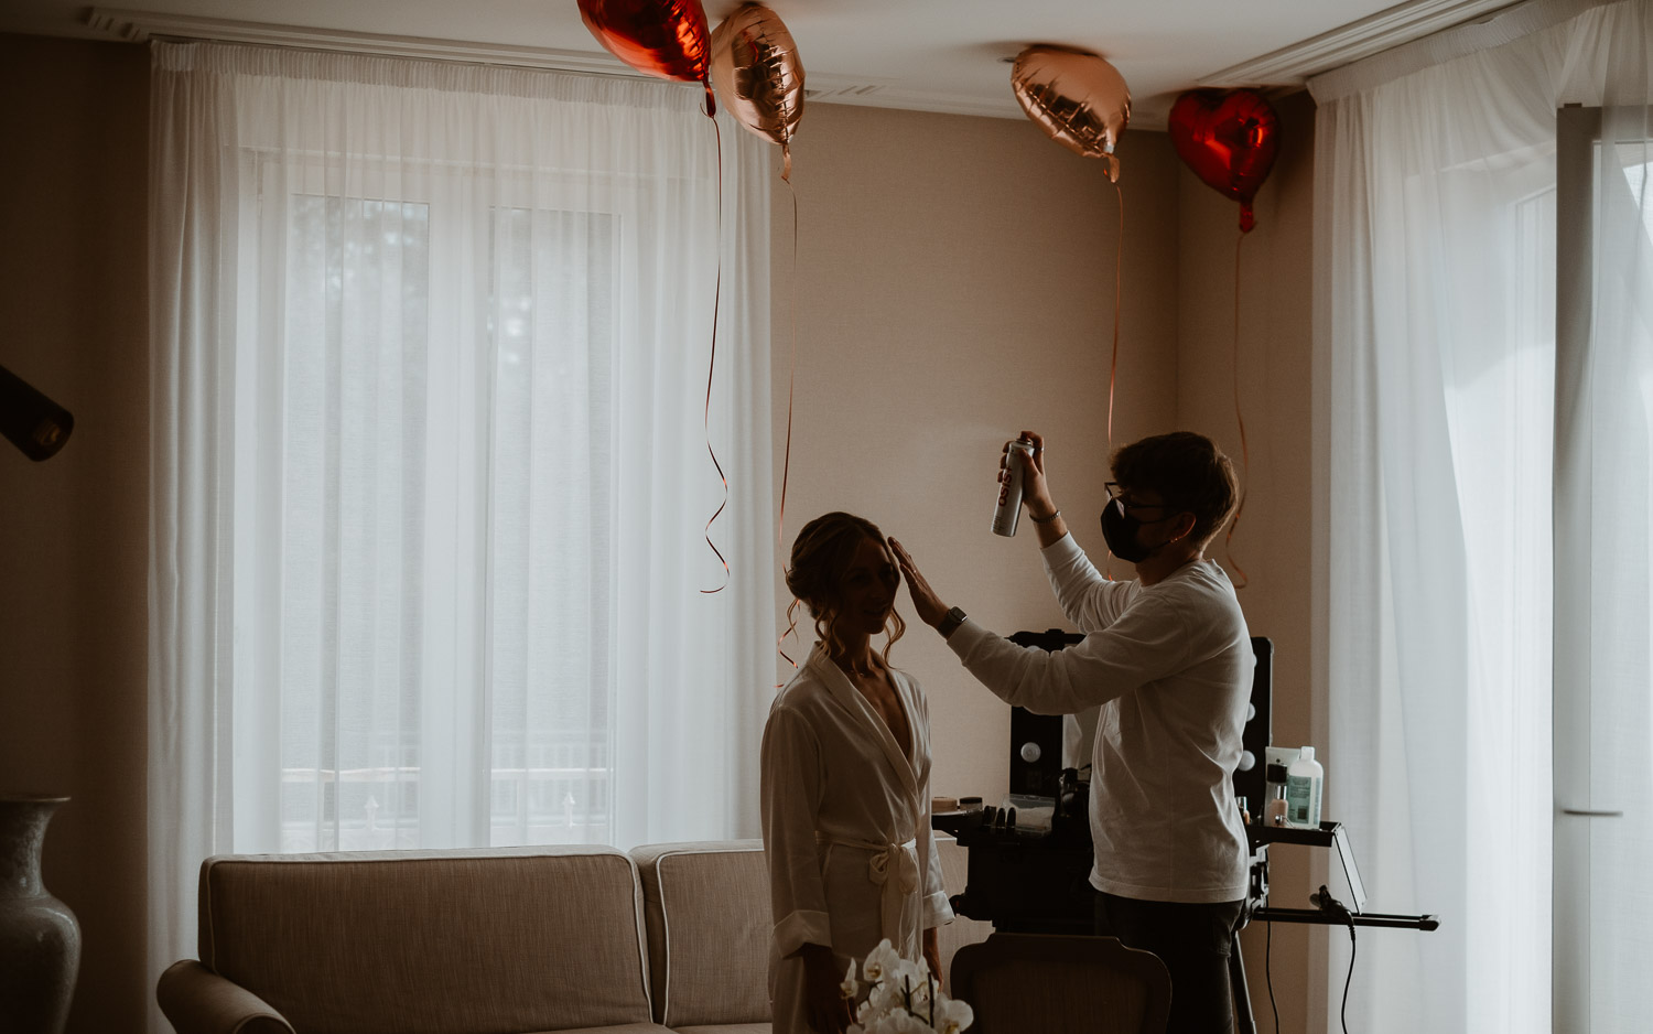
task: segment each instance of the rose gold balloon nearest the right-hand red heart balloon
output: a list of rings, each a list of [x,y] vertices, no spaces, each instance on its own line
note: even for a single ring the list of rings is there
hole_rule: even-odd
[[[1117,68],[1084,50],[1028,46],[1017,55],[1010,86],[1050,139],[1103,159],[1108,179],[1119,182],[1114,144],[1131,122],[1131,89]]]

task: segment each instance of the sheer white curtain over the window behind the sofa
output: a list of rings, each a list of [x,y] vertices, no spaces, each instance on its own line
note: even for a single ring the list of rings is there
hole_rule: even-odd
[[[724,122],[719,195],[686,86],[152,81],[152,963],[215,852],[755,835],[764,144]]]

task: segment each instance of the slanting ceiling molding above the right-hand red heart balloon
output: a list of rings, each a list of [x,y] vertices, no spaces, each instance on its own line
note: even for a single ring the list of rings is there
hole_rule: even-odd
[[[1413,0],[1261,58],[1213,71],[1200,78],[1198,86],[1301,86],[1309,76],[1508,7],[1516,5],[1511,0]]]

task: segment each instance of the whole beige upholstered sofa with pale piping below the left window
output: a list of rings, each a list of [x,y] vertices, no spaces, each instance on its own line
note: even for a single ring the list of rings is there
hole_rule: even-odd
[[[226,855],[157,998],[179,1034],[767,1034],[769,928],[757,840]]]

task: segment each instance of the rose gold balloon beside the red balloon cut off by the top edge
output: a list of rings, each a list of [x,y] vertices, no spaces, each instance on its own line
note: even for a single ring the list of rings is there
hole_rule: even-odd
[[[712,33],[712,86],[724,108],[757,136],[780,144],[780,177],[792,179],[792,136],[803,117],[803,61],[780,15],[746,3]]]

